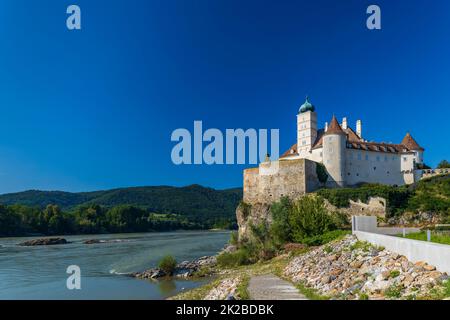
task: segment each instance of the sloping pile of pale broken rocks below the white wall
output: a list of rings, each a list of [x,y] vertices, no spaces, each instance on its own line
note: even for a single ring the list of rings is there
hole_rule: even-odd
[[[336,299],[414,299],[448,279],[426,262],[412,263],[355,236],[295,257],[284,274]]]

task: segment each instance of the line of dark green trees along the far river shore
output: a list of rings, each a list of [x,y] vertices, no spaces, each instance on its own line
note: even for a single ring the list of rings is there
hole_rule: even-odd
[[[45,208],[0,205],[0,236],[65,235],[234,228],[232,218],[189,220],[176,214],[158,214],[132,205],[105,207],[96,204],[63,211],[58,205]]]

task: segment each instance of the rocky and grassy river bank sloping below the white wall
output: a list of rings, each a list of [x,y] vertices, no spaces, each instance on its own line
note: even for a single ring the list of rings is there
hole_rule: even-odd
[[[213,282],[170,299],[249,299],[249,283],[261,275],[286,280],[312,300],[450,297],[447,274],[425,262],[412,263],[384,248],[358,241],[352,235],[320,247],[285,251],[265,262],[235,268],[217,267],[212,273],[216,277]],[[270,290],[265,289],[267,297],[273,296]]]

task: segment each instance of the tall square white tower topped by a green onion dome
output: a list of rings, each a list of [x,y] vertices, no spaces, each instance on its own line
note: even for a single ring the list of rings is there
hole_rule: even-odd
[[[307,157],[317,138],[317,113],[308,97],[297,114],[297,151],[301,157]]]

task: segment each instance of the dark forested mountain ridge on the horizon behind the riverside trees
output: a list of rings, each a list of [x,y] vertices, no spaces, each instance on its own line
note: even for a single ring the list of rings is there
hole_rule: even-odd
[[[70,211],[77,206],[122,204],[139,206],[155,213],[174,213],[201,220],[203,217],[234,217],[242,189],[215,190],[200,185],[186,187],[130,187],[94,192],[29,190],[0,195],[0,203],[44,208],[56,204]]]

